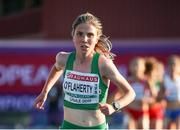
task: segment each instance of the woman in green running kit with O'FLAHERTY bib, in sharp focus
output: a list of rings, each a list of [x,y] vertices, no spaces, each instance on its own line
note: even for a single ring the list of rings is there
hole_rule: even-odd
[[[106,116],[130,104],[135,92],[112,62],[113,54],[102,25],[90,13],[79,15],[72,24],[75,52],[59,52],[34,107],[44,109],[48,92],[64,76],[64,121],[62,129],[105,129]],[[123,92],[121,99],[106,103],[110,81]]]

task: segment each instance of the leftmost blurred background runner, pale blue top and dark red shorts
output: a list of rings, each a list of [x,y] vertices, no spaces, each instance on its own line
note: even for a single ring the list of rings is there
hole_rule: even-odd
[[[144,80],[145,61],[142,57],[132,59],[129,65],[130,77],[129,83],[136,92],[136,99],[131,103],[126,112],[129,116],[129,129],[146,129],[149,126],[148,104],[144,96],[146,84]]]

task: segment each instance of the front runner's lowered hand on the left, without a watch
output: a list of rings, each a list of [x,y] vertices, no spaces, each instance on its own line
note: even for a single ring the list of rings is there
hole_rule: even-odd
[[[47,99],[47,95],[43,94],[43,93],[40,93],[39,96],[35,99],[33,107],[36,108],[36,109],[44,110],[43,105],[44,105],[46,99]]]

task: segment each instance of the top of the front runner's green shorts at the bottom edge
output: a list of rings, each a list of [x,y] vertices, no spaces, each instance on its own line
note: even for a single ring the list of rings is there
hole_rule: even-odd
[[[106,123],[103,123],[103,124],[100,124],[100,125],[97,125],[97,126],[91,126],[91,127],[84,127],[84,126],[78,126],[78,125],[75,125],[75,124],[72,124],[68,121],[63,121],[60,129],[106,129],[107,128],[107,125]]]

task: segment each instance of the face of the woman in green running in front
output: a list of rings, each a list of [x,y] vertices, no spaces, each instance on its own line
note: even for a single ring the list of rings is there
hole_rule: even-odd
[[[73,41],[77,52],[90,54],[98,41],[97,29],[91,24],[79,24],[74,32]]]

